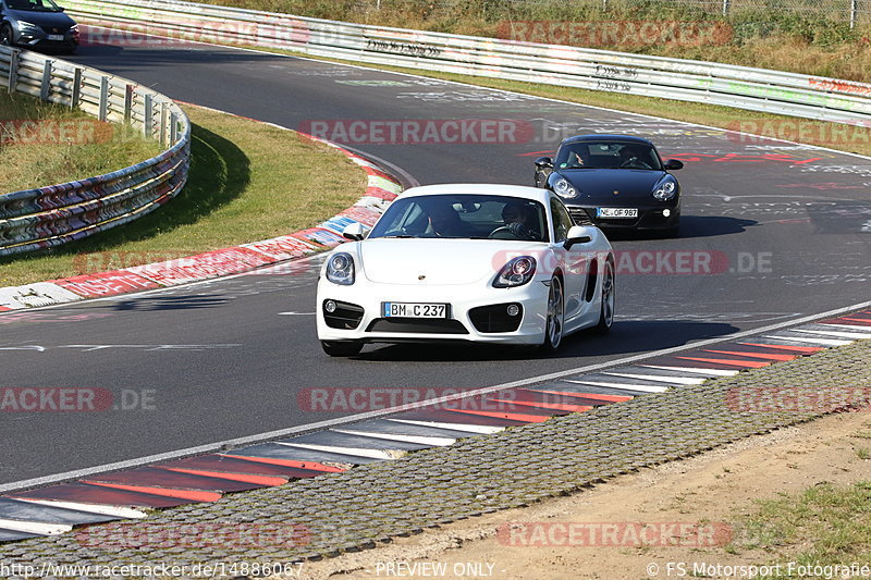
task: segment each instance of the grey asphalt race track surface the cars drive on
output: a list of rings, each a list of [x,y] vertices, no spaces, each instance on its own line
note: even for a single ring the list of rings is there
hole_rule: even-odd
[[[507,119],[523,129],[505,143],[351,145],[421,184],[531,184],[532,160],[554,150],[561,137],[647,136],[663,158],[686,163],[677,172],[683,232],[679,239],[615,240],[625,254],[613,333],[576,335],[549,358],[514,349],[376,345],[359,358],[331,359],[315,334],[316,264],[2,314],[2,386],[106,388],[118,408],[4,414],[0,484],[360,410],[306,411],[297,395],[309,387],[489,386],[868,299],[871,160],[228,48],[85,46],[73,60],[174,99],[292,128],[310,129],[311,121]],[[696,267],[675,273],[676,251],[694,252]]]

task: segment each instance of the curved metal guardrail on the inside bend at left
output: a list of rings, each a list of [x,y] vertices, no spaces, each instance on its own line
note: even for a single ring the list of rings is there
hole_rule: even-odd
[[[187,180],[191,123],[172,100],[132,81],[44,54],[0,47],[0,86],[128,123],[167,150],[142,163],[71,183],[0,194],[0,256],[45,249],[130,222]]]

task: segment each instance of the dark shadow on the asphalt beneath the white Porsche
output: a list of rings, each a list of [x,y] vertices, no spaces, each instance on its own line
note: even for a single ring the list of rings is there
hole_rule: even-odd
[[[567,359],[636,355],[683,346],[691,341],[726,336],[739,329],[724,322],[626,320],[614,323],[606,336],[578,332],[564,340],[559,351],[542,355],[536,347],[494,346],[474,343],[369,345],[353,357],[368,361],[493,361]]]

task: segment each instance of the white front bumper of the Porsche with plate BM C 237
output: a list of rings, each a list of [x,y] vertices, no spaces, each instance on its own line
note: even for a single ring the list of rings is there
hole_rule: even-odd
[[[341,286],[326,280],[318,282],[316,305],[318,321],[318,338],[321,341],[364,341],[401,343],[412,341],[471,341],[494,344],[539,345],[544,342],[548,294],[550,288],[536,276],[529,283],[515,288],[470,288],[468,285],[396,285],[377,284],[366,280],[357,280],[351,286]],[[334,300],[342,308],[342,303],[363,309],[352,312],[343,309],[343,318],[352,322],[342,323],[330,317],[330,323],[348,326],[359,317],[355,328],[331,328],[328,324],[324,303]],[[450,319],[384,319],[383,303],[425,303],[449,304]],[[507,305],[522,307],[520,319],[516,330],[507,332],[486,332],[516,324],[511,317],[503,314]],[[476,308],[504,305],[492,310],[492,316],[484,316]],[[473,321],[478,322],[478,325]],[[492,322],[482,322],[488,320]]]

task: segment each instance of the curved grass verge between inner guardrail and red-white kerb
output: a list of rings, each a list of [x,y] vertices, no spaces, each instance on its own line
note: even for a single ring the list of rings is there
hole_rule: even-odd
[[[90,273],[82,271],[85,263],[111,270],[289,234],[363,195],[364,172],[330,147],[256,121],[184,109],[193,123],[192,164],[176,199],[73,245],[7,258],[0,286]]]

